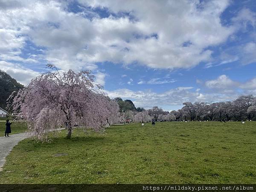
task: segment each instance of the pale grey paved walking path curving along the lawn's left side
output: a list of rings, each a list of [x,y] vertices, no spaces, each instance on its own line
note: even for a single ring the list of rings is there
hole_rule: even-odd
[[[62,130],[60,128],[58,130]],[[31,137],[32,135],[27,133],[10,134],[10,137],[0,137],[0,171],[2,171],[3,165],[6,162],[6,156],[12,151],[12,148],[17,145],[21,140]]]

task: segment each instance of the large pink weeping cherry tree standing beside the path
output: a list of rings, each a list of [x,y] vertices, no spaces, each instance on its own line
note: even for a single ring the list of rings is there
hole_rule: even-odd
[[[55,71],[32,79],[12,103],[14,113],[21,113],[39,138],[65,121],[67,138],[71,138],[74,125],[99,131],[104,129],[107,118],[118,118],[118,104],[105,96],[89,71],[61,72],[54,65],[47,66]]]

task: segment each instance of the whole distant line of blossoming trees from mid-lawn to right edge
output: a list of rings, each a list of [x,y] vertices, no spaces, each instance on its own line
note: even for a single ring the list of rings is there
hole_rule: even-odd
[[[255,120],[256,118],[256,97],[253,95],[239,96],[234,101],[184,102],[183,105],[183,108],[170,113],[157,106],[142,112],[127,111],[126,119],[133,119],[134,122],[149,122],[152,118],[162,121],[230,121]]]

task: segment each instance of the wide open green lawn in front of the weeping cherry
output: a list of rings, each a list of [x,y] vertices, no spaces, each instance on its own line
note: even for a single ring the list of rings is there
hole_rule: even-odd
[[[132,124],[51,139],[16,145],[0,183],[256,183],[256,122]]]

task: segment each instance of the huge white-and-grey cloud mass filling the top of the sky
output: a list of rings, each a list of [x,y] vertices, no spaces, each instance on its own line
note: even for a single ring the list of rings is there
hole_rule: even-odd
[[[220,20],[228,0],[79,3],[83,9],[70,12],[68,1],[3,1],[1,58],[26,58],[23,48],[31,42],[42,50],[45,61],[63,70],[94,70],[95,63],[103,61],[190,68],[209,61],[212,50],[207,47],[225,42],[234,32],[233,26],[223,26]],[[93,12],[96,8],[110,14],[101,17]],[[88,11],[93,15],[88,17]]]

